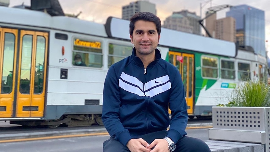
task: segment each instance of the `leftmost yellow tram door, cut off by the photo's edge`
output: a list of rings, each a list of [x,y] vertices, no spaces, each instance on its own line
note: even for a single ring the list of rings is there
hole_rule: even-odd
[[[0,28],[0,118],[13,117],[17,29]]]

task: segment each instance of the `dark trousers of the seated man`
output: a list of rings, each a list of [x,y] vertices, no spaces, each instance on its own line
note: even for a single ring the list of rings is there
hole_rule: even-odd
[[[155,139],[163,139],[167,135],[167,131],[158,131],[145,134],[139,138],[144,139],[149,144]],[[104,141],[103,152],[130,152],[129,149],[113,137]],[[176,149],[173,152],[210,152],[208,145],[197,138],[184,136],[176,143]]]

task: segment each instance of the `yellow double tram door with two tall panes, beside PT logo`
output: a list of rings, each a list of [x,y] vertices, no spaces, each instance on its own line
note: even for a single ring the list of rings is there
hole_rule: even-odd
[[[48,33],[21,30],[16,117],[43,117]]]

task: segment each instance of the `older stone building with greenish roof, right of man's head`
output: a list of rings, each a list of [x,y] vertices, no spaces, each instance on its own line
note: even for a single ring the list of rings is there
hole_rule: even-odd
[[[189,19],[178,13],[173,13],[173,15],[167,17],[163,27],[193,33],[193,26],[190,25]]]

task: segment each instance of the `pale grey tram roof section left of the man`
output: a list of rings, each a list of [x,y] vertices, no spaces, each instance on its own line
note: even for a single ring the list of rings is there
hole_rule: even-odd
[[[22,8],[0,6],[0,23],[59,29],[107,37],[103,24],[67,16],[50,16],[48,13]]]

